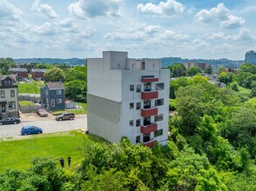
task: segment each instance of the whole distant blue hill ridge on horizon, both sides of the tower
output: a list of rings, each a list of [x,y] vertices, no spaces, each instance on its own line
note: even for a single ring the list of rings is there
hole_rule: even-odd
[[[195,63],[210,63],[212,65],[225,65],[227,67],[232,68],[239,68],[239,64],[245,63],[243,60],[239,61],[232,61],[227,60],[225,58],[219,59],[219,60],[206,60],[206,59],[183,59],[180,57],[163,57],[160,58],[162,67],[165,68],[169,65],[172,65],[173,63],[188,63],[190,61],[193,61]],[[86,59],[80,59],[80,58],[68,58],[68,59],[61,59],[61,58],[19,58],[14,59],[15,63],[58,63],[58,64],[67,64],[67,65],[82,65],[86,64]]]

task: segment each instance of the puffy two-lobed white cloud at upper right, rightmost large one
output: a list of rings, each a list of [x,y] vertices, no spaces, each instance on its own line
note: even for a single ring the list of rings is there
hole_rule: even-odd
[[[224,3],[219,3],[217,7],[211,10],[200,10],[194,19],[201,23],[220,22],[219,26],[225,29],[239,28],[245,19],[239,16],[233,16],[231,11],[226,9]]]

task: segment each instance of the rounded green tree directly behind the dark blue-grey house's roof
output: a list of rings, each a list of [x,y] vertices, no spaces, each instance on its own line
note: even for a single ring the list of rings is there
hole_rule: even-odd
[[[64,71],[62,69],[58,69],[57,67],[48,69],[44,73],[44,81],[45,82],[63,82]]]

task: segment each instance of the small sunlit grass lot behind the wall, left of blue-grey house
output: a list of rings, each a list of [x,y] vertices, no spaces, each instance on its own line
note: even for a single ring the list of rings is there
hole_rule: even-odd
[[[18,93],[19,94],[40,94],[40,87],[43,87],[44,83],[39,81],[31,82],[19,82]]]

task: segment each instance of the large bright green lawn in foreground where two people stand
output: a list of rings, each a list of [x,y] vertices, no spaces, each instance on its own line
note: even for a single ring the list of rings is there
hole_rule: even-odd
[[[0,173],[4,169],[30,168],[30,160],[35,156],[50,156],[59,163],[60,157],[71,156],[71,168],[75,168],[83,161],[84,142],[105,142],[94,135],[85,135],[82,132],[71,131],[59,134],[23,136],[21,140],[0,141],[1,165]]]

